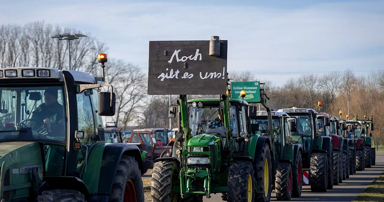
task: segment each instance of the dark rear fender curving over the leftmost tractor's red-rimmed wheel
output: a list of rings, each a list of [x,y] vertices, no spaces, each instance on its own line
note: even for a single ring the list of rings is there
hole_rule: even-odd
[[[111,193],[113,180],[122,155],[128,155],[135,158],[139,164],[139,169],[143,174],[144,168],[141,160],[139,147],[132,144],[111,143],[106,144],[103,151],[103,160],[99,176],[98,193],[109,195]]]

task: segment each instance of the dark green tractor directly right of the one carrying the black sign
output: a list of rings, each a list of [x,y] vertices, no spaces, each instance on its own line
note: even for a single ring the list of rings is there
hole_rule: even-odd
[[[249,110],[253,107],[250,106]],[[268,134],[269,128],[267,111],[250,112],[252,124],[257,124],[258,135]],[[285,112],[271,112],[273,132],[272,167],[275,170],[272,181],[275,182],[275,193],[278,200],[290,200],[300,197],[303,186],[303,164],[301,155],[303,149],[298,142],[293,143],[291,132],[296,131],[295,118]],[[288,179],[288,180],[287,180]]]

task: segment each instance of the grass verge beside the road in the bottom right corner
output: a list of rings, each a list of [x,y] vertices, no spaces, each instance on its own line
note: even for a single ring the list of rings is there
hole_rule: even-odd
[[[384,172],[377,177],[353,202],[384,202]]]

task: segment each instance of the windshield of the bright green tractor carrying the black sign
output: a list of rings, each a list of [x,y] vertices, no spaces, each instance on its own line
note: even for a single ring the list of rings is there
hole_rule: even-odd
[[[222,110],[222,109],[221,109]],[[219,107],[208,106],[208,107],[193,107],[189,109],[189,128],[191,129],[192,136],[202,133],[219,133],[225,136],[225,126]],[[236,107],[231,106],[229,108],[230,113],[230,125],[232,129],[232,136],[238,135],[237,128],[237,116]]]

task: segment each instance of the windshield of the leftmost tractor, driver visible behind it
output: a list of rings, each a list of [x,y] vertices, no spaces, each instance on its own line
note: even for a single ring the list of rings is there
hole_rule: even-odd
[[[63,86],[0,87],[0,100],[0,141],[66,142]]]

